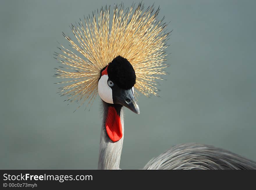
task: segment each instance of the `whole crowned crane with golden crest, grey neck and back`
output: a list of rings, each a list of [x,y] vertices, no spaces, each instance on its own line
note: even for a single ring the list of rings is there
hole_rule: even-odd
[[[56,68],[55,75],[69,79],[59,82],[69,83],[60,88],[67,101],[80,101],[81,106],[85,101],[91,104],[97,94],[102,99],[98,169],[120,169],[123,107],[139,114],[136,94],[157,95],[156,80],[166,75],[168,66],[165,48],[170,32],[165,31],[163,19],[157,19],[159,8],[116,5],[111,24],[109,13],[110,6],[102,7],[93,17],[71,25],[77,43],[63,33],[72,50],[61,45],[62,53],[54,54],[66,66]],[[256,163],[213,146],[182,144],[150,160],[143,169],[256,169]]]

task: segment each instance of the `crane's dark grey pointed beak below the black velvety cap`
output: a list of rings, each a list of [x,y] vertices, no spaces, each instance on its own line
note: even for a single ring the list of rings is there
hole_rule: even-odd
[[[135,102],[132,88],[128,90],[124,89],[115,89],[113,92],[113,102],[114,104],[121,104],[129,108],[134,113],[140,114],[140,108]]]

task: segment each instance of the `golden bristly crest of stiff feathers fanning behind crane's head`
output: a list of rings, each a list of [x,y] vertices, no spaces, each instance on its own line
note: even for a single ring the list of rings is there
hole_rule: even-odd
[[[62,53],[56,53],[56,59],[68,67],[55,68],[57,78],[70,79],[57,84],[69,83],[60,88],[61,95],[68,95],[68,101],[79,101],[83,104],[88,100],[92,103],[97,96],[97,83],[100,70],[118,55],[125,57],[136,73],[134,88],[142,94],[157,95],[156,79],[166,75],[163,70],[168,66],[166,61],[166,41],[170,34],[164,29],[167,24],[158,20],[159,8],[154,5],[144,10],[139,3],[135,9],[124,10],[124,5],[114,6],[112,27],[109,22],[109,8],[101,8],[93,17],[80,19],[78,25],[71,25],[72,32],[78,43],[70,37],[71,50],[61,45]],[[74,52],[79,52],[81,56]],[[78,54],[79,54],[78,53]],[[67,70],[64,70],[67,69]],[[80,107],[80,106],[79,106]]]

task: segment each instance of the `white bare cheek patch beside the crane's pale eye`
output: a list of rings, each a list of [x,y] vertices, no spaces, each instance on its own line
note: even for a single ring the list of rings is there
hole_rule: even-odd
[[[102,75],[98,82],[98,93],[104,102],[113,104],[112,89],[108,85],[108,75]]]

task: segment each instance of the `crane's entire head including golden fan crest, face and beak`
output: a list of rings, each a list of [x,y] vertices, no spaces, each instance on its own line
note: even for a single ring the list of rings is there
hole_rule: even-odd
[[[84,17],[70,28],[74,39],[70,49],[63,45],[55,58],[62,64],[56,69],[57,78],[66,81],[59,88],[65,101],[86,101],[92,104],[97,94],[113,105],[122,105],[139,113],[135,94],[158,95],[157,80],[166,75],[167,24],[158,19],[159,8],[144,8],[142,3],[125,8],[115,5],[102,7],[93,17]],[[136,73],[136,74],[135,74]],[[109,105],[111,106],[111,105]]]

